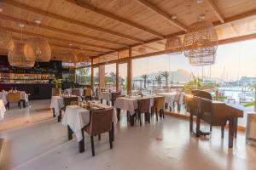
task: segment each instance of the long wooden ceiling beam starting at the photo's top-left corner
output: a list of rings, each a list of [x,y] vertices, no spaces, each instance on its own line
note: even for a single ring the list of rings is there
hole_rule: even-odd
[[[35,13],[35,14],[44,15],[45,17],[49,17],[49,18],[52,18],[52,19],[55,19],[55,20],[61,20],[61,21],[67,22],[69,24],[82,26],[84,28],[87,28],[87,29],[90,29],[90,30],[93,30],[93,31],[101,31],[103,33],[111,34],[111,35],[116,36],[116,37],[122,37],[122,38],[125,38],[125,39],[128,39],[128,40],[134,41],[134,42],[142,42],[142,43],[144,42],[143,40],[138,39],[136,37],[131,37],[131,36],[116,32],[116,31],[111,31],[111,30],[108,30],[108,29],[104,29],[102,27],[93,26],[93,25],[81,22],[79,20],[73,20],[73,19],[61,16],[61,15],[58,15],[58,14],[52,14],[52,13],[49,13],[49,12],[44,11],[42,9],[32,8],[32,7],[27,6],[23,3],[18,3],[18,2],[12,1],[12,0],[1,0],[1,3],[8,4],[8,5],[13,6],[15,8],[21,8],[23,10],[26,10],[26,11],[29,11],[29,12],[32,12],[32,13]]]

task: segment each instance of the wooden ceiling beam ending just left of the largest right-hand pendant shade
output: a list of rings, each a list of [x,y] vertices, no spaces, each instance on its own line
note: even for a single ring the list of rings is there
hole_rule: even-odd
[[[138,3],[142,4],[144,7],[148,8],[149,10],[153,11],[156,14],[160,14],[161,16],[163,16],[166,20],[170,21],[174,26],[177,26],[178,28],[180,28],[183,31],[188,31],[188,28],[186,26],[184,26],[183,24],[181,24],[180,22],[178,22],[177,20],[173,20],[172,16],[170,16],[169,14],[167,14],[166,12],[162,11],[160,8],[156,7],[154,4],[149,3],[146,0],[136,0]]]

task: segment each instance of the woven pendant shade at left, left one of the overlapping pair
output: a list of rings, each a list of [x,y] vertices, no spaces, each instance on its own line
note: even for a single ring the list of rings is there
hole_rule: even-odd
[[[24,45],[22,43],[15,43],[15,48],[13,51],[9,51],[8,54],[9,65],[17,67],[33,67],[35,61],[26,60],[24,54]]]

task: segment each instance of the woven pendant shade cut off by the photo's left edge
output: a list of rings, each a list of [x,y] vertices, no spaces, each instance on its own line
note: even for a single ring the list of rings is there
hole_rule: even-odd
[[[8,49],[9,51],[12,51],[15,48],[15,42],[11,35],[1,30],[0,31],[0,48]]]

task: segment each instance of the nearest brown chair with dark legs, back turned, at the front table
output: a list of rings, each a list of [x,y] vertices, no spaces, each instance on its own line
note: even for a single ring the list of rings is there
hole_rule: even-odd
[[[113,148],[113,132],[112,132],[113,109],[102,111],[92,111],[90,115],[90,124],[84,127],[84,131],[90,135],[91,153],[95,156],[94,139],[96,135],[107,133],[109,135],[110,149]]]

